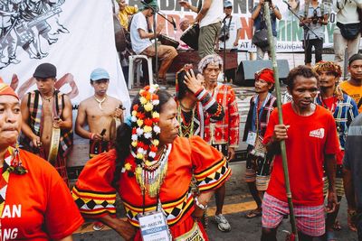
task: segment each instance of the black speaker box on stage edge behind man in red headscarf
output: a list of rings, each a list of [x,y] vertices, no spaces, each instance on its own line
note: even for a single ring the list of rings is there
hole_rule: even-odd
[[[288,60],[277,60],[279,79],[285,82],[289,73]],[[271,68],[271,60],[243,60],[240,62],[236,71],[236,78],[233,84],[238,86],[254,86],[254,74],[255,72],[264,68]]]

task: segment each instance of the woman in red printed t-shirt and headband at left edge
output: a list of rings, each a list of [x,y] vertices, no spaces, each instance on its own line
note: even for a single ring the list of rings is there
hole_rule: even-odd
[[[21,124],[19,97],[0,79],[0,240],[71,241],[83,218],[52,165],[18,148]]]

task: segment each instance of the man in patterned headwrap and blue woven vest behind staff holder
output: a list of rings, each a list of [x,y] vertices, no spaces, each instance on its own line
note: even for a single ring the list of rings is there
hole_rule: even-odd
[[[348,134],[348,126],[358,116],[358,108],[355,100],[349,97],[338,86],[338,80],[342,75],[340,66],[332,61],[319,61],[314,70],[319,75],[319,94],[316,97],[316,104],[325,107],[334,117],[337,126],[337,134],[339,139],[340,150],[336,154],[337,169],[336,169],[336,194],[338,205],[332,213],[327,214],[326,220],[326,235],[328,238],[334,237],[333,229],[340,230],[341,227],[336,219],[338,216],[339,203],[345,194],[343,188],[343,156],[344,147]],[[324,171],[324,196],[327,196],[329,190],[329,180]],[[348,226],[353,229],[353,224],[350,221],[348,209]],[[355,227],[356,228],[356,227]]]

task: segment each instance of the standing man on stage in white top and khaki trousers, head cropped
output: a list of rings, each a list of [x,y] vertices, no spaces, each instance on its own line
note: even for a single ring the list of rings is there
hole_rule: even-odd
[[[197,13],[194,23],[200,25],[200,34],[198,36],[198,55],[200,58],[214,54],[214,43],[219,35],[221,21],[223,20],[223,1],[204,0],[201,8],[190,5],[187,1],[180,1],[179,4]]]

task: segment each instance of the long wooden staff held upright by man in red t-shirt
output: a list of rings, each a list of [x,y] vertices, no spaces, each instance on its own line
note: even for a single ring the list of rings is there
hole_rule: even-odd
[[[274,71],[274,79],[275,79],[275,89],[277,93],[277,106],[278,106],[278,117],[279,117],[279,124],[283,125],[282,120],[282,111],[281,111],[281,84],[279,82],[279,71],[278,71],[278,63],[275,57],[275,45],[274,45],[274,38],[272,36],[271,30],[271,13],[269,11],[269,2],[264,2],[264,17],[268,31],[268,40],[269,40],[269,47],[271,51],[271,62],[272,62],[272,70]],[[294,240],[298,241],[298,231],[295,225],[295,216],[294,216],[294,209],[293,209],[293,202],[291,199],[291,182],[289,181],[289,171],[288,171],[288,162],[287,162],[287,153],[285,149],[285,141],[281,141],[281,160],[283,165],[284,171],[284,180],[285,180],[285,190],[287,192],[287,199],[288,199],[288,206],[291,215],[291,232],[294,235]]]

